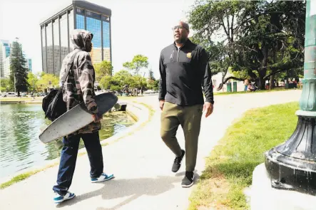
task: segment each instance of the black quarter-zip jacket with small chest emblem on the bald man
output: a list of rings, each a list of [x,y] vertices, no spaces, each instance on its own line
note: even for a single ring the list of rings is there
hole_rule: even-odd
[[[177,105],[214,103],[208,55],[189,39],[178,49],[175,43],[160,53],[159,100]],[[202,89],[203,87],[203,89]]]

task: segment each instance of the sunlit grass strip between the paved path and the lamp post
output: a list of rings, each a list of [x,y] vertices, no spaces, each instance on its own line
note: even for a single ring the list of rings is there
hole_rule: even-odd
[[[245,112],[208,157],[189,209],[248,209],[243,189],[251,185],[264,152],[292,135],[298,109],[298,103],[286,103]]]

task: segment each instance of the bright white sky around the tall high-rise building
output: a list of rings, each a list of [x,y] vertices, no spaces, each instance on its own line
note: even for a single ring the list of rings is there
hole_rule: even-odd
[[[133,56],[148,57],[156,79],[160,51],[173,43],[172,26],[187,20],[194,0],[88,0],[112,11],[112,65],[114,72]],[[33,72],[41,68],[41,29],[39,24],[71,4],[71,0],[0,0],[0,39],[22,43],[32,58]],[[148,72],[146,75],[148,76]]]

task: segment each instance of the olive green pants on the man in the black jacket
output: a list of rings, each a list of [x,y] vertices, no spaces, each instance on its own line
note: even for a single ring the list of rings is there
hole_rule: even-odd
[[[181,148],[175,137],[181,125],[185,137],[185,170],[193,172],[198,153],[198,136],[203,105],[181,106],[165,102],[161,113],[160,135],[171,151],[181,155]]]

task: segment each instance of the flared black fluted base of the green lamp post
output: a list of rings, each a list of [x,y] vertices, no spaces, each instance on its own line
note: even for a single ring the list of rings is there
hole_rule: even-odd
[[[289,140],[265,153],[265,167],[275,189],[316,195],[316,129],[314,117],[298,116]]]

